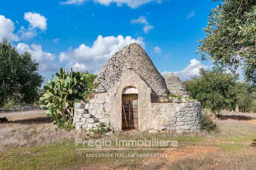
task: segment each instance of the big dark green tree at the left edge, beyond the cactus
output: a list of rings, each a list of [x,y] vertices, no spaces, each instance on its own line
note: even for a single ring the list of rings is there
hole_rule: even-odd
[[[0,107],[6,102],[30,104],[36,101],[43,77],[31,54],[20,55],[7,39],[0,41]]]

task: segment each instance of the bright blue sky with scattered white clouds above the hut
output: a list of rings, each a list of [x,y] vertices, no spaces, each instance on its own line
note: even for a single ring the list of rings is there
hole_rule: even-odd
[[[211,0],[4,0],[0,38],[7,37],[19,53],[30,51],[45,79],[60,67],[97,73],[113,53],[137,42],[160,73],[177,72],[186,80],[199,67],[212,66],[195,50],[216,5]]]

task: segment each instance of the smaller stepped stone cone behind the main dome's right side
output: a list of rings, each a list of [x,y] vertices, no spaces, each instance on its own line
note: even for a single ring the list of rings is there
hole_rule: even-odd
[[[188,97],[188,92],[186,91],[185,85],[177,74],[167,73],[165,76],[165,83],[171,93]]]

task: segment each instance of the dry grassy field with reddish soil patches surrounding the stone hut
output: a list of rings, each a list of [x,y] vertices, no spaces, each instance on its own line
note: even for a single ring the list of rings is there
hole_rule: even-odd
[[[235,115],[235,116],[234,116]],[[0,169],[255,169],[255,114],[223,111],[218,133],[116,132],[105,140],[177,140],[175,150],[76,151],[75,138],[90,138],[85,132],[56,129],[44,111],[0,113],[13,123],[0,124]],[[92,148],[89,146],[83,148]],[[124,147],[113,148],[122,149]],[[135,147],[131,147],[135,148]],[[141,147],[143,148],[143,147]],[[150,148],[159,148],[157,146]],[[168,147],[169,148],[169,147]],[[165,148],[166,149],[166,148]],[[86,153],[163,153],[164,157],[88,158]]]

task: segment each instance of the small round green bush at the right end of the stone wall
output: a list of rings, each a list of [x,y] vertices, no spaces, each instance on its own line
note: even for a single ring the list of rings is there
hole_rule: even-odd
[[[207,118],[205,114],[203,114],[199,119],[199,124],[201,125],[201,129],[204,132],[210,133],[213,131],[218,131],[218,126],[214,123],[210,118]]]

